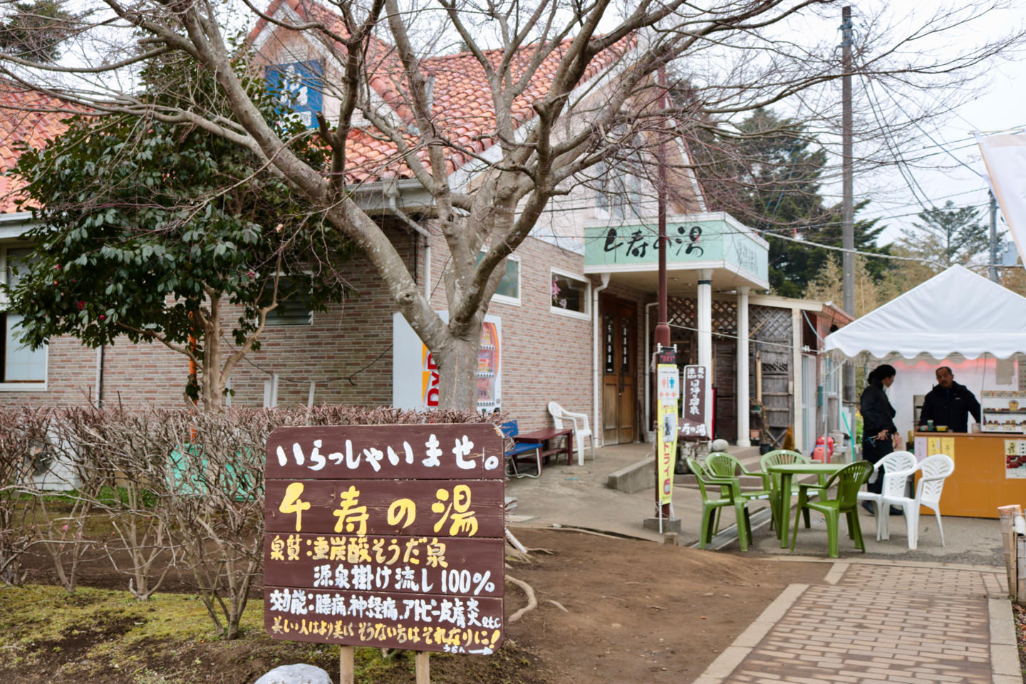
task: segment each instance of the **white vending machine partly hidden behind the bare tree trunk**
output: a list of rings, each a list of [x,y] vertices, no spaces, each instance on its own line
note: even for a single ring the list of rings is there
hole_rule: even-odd
[[[448,321],[448,312],[438,315]],[[502,319],[485,315],[477,356],[477,407],[502,408]],[[392,316],[392,405],[416,410],[438,407],[438,365],[402,314]]]

